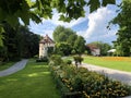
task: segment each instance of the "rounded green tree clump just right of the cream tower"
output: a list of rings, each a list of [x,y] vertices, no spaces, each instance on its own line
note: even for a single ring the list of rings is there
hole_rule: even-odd
[[[71,28],[57,26],[53,30],[53,39],[57,42],[57,51],[64,56],[71,54],[72,51],[83,53],[85,50],[85,39],[78,36]]]

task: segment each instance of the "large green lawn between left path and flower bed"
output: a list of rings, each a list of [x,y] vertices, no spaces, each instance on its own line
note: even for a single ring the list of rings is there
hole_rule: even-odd
[[[0,98],[60,98],[46,63],[29,60],[26,68],[0,77]]]

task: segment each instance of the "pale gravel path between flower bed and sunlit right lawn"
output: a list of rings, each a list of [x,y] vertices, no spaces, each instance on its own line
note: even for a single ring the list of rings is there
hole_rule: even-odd
[[[108,76],[112,79],[120,81],[120,82],[131,86],[131,72],[123,72],[123,71],[102,68],[102,66],[86,64],[86,63],[82,63],[81,66],[87,68],[90,71],[95,71],[100,74],[105,74],[106,76]]]

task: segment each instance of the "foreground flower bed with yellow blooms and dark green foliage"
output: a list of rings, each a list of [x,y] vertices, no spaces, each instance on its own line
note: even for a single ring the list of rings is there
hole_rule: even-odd
[[[131,95],[129,86],[73,65],[50,65],[63,98],[119,98]]]

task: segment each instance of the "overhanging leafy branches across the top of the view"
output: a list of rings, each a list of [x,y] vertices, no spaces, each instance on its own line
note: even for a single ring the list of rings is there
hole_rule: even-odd
[[[71,21],[85,15],[84,7],[88,5],[93,12],[99,7],[115,4],[116,0],[0,0],[0,23],[7,21],[16,25],[21,19],[26,25],[29,19],[39,23],[40,17],[51,19],[52,10],[60,13],[61,21]]]

